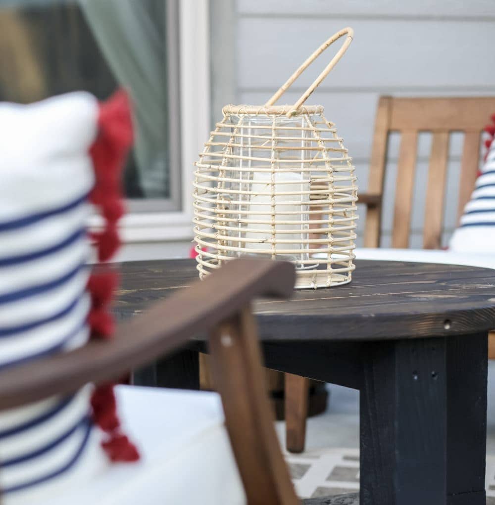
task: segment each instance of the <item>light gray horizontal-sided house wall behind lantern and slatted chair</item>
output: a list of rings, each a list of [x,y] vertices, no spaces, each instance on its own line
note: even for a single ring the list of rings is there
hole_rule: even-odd
[[[213,0],[215,2],[215,0]],[[227,2],[218,0],[223,8]],[[230,70],[238,103],[263,104],[332,33],[344,26],[355,37],[343,59],[309,98],[325,107],[353,157],[358,186],[366,190],[377,100],[393,96],[495,95],[495,2],[475,0],[236,0]],[[214,27],[212,21],[212,28]],[[212,34],[214,37],[215,35]],[[221,35],[218,36],[220,39]],[[341,42],[336,42],[336,47]],[[281,103],[294,103],[335,54],[330,48],[294,83]],[[212,57],[215,54],[212,53]],[[231,59],[232,60],[232,59]],[[229,64],[229,58],[223,61]],[[229,74],[228,69],[223,69]],[[215,86],[215,75],[213,86]],[[219,100],[217,100],[219,101]],[[213,113],[220,114],[219,104]],[[221,106],[220,106],[221,107]],[[487,111],[489,115],[495,111]],[[444,243],[456,226],[462,134],[451,137]],[[392,135],[385,182],[382,245],[390,244],[398,135]],[[414,190],[411,246],[421,247],[431,138],[421,134]],[[360,206],[361,207],[361,206]],[[358,234],[363,235],[364,208]],[[358,244],[361,243],[361,239]]]

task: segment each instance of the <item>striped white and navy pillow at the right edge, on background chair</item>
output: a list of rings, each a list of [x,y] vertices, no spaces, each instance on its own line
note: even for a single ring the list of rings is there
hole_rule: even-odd
[[[449,249],[495,254],[495,141],[488,149],[471,200],[464,208],[460,227],[454,232]]]

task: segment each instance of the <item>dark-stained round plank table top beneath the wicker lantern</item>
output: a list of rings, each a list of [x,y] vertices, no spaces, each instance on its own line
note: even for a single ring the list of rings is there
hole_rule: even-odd
[[[495,270],[356,260],[350,284],[296,290],[254,304],[262,340],[381,340],[487,332],[495,328]],[[120,264],[119,318],[198,280],[195,260]],[[233,279],[233,281],[235,281]],[[166,324],[166,321],[164,321]]]

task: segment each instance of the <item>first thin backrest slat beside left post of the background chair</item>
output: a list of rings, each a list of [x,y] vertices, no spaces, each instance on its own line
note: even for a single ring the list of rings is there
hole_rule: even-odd
[[[416,130],[402,133],[397,164],[392,247],[409,247],[417,144],[418,132]]]

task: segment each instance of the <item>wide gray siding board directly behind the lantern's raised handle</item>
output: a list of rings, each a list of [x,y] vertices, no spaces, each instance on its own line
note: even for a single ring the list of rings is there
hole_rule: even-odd
[[[493,33],[495,20],[382,21],[349,18],[354,40],[323,89],[381,90],[474,88],[486,92],[495,82]],[[277,89],[332,33],[342,20],[293,18],[239,19],[237,74],[241,89]],[[332,49],[329,49],[331,52]],[[308,86],[321,72],[328,53],[297,81]],[[409,89],[408,89],[409,90]],[[315,96],[317,99],[317,96]]]

